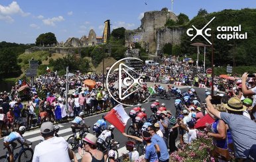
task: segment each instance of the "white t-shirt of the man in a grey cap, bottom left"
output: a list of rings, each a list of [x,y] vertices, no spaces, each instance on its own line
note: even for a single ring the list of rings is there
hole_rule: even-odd
[[[44,140],[34,147],[33,162],[63,161],[70,162],[68,142],[62,137]]]

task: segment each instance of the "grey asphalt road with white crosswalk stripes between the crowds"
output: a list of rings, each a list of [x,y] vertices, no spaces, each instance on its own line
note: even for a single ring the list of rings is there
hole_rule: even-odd
[[[187,87],[181,87],[180,89],[182,89],[182,91],[188,91]],[[204,89],[199,89],[199,88],[195,88],[196,92],[198,93],[198,96],[201,99],[201,102],[204,101],[205,99],[205,95],[204,95]],[[146,102],[145,104],[142,104],[142,106],[146,109],[146,113],[147,116],[151,116],[152,112],[151,112],[151,104],[153,103],[153,101],[155,101],[156,99],[159,99],[160,104],[162,102],[164,102],[166,104],[166,108],[167,110],[170,110],[170,112],[172,112],[172,114],[175,114],[175,107],[174,107],[174,98],[171,97],[170,100],[162,100],[160,99],[160,97],[156,97],[156,98],[149,98],[150,101]],[[134,106],[130,106],[125,108],[125,111],[127,112],[127,114],[129,114],[129,111],[131,110],[131,108],[133,108]],[[89,116],[85,119],[86,124],[88,124],[88,126],[92,126],[94,125],[94,123],[100,119],[102,116],[102,114],[97,114],[94,116]],[[128,121],[127,123],[127,127],[126,129],[129,127],[129,125],[131,124],[131,120]],[[92,129],[90,130],[90,132],[92,133]],[[125,130],[126,132],[126,130]],[[60,130],[58,132],[59,136],[62,136],[65,138],[65,140],[68,139],[69,136],[72,135],[72,131],[70,128],[70,123],[65,123],[65,124],[60,124]],[[125,136],[123,136],[121,134],[121,132],[119,132],[117,129],[114,130],[113,134],[115,135],[115,141],[120,143],[119,146],[119,155],[121,155],[121,153],[127,153],[127,150],[125,149],[125,142],[127,142],[127,138],[125,138]],[[34,147],[39,143],[39,140],[41,139],[40,136],[40,129],[35,129],[35,130],[31,130],[28,132],[25,132],[24,137],[26,140],[29,140],[30,142],[32,142],[32,149],[34,149]],[[176,139],[178,140],[178,139]],[[1,138],[0,140],[0,156],[1,155],[5,155],[5,152],[7,151],[7,149],[3,150],[3,138]],[[17,151],[17,150],[15,150]],[[78,159],[81,159],[80,155],[78,154],[78,151],[75,151]]]

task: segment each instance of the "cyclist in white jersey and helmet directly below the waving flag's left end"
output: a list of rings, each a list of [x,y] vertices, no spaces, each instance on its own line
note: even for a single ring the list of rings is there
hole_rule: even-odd
[[[115,126],[112,124],[107,126],[107,130],[103,130],[99,137],[97,138],[97,146],[103,151],[105,159],[107,159],[107,149],[114,144],[114,134],[113,130]]]

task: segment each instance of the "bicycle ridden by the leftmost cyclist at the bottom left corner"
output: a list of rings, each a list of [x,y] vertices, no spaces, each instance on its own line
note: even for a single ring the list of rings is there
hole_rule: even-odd
[[[32,145],[29,144],[29,145]],[[21,147],[19,153],[15,153],[15,155],[13,155],[13,161],[16,161],[18,159],[18,161],[32,161],[33,155],[34,155],[34,151],[31,148],[24,148],[23,144],[21,144]],[[18,149],[19,147],[16,147],[15,149]],[[6,147],[4,147],[3,149],[6,149]],[[7,151],[5,153],[5,155],[0,157],[0,161],[2,162],[7,162],[10,161],[10,157],[9,157],[9,152]]]

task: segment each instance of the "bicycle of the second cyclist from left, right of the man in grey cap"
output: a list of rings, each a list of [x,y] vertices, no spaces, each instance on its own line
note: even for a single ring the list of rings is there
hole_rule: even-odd
[[[68,142],[68,147],[72,149],[72,151],[78,149],[82,145],[82,139],[89,133],[90,126],[84,126],[78,132],[78,136],[76,135],[76,131],[73,132],[73,135],[66,140]]]

